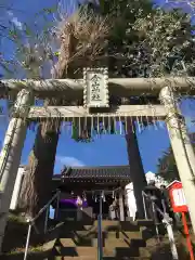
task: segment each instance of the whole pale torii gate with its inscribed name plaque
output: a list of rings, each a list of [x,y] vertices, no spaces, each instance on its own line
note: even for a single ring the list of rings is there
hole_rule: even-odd
[[[8,93],[9,91],[17,93],[17,98],[0,155],[0,245],[4,235],[9,206],[21,161],[27,121],[50,117],[68,118],[68,120],[90,118],[91,123],[98,117],[105,120],[109,120],[109,117],[122,118],[122,120],[129,117],[165,119],[195,232],[195,183],[193,182],[195,154],[186,132],[184,119],[176,102],[177,92],[191,91],[193,94],[195,92],[193,87],[195,87],[195,78],[108,79],[106,68],[86,69],[84,77],[80,80],[2,80],[0,82],[0,93]],[[73,100],[83,96],[83,106],[31,106],[35,96],[58,96],[62,95],[62,92]],[[159,96],[161,105],[121,105],[114,109],[109,107],[109,93],[122,98],[152,93]],[[95,112],[93,112],[94,108]]]

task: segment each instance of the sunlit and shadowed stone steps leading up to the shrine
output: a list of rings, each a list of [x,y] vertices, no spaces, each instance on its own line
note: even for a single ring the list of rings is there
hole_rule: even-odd
[[[103,259],[151,259],[147,239],[155,235],[152,221],[102,222]],[[98,260],[98,222],[66,222],[50,232],[48,260]]]

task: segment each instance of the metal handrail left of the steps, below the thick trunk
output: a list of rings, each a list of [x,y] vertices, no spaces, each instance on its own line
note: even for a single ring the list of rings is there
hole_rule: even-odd
[[[29,248],[29,239],[30,239],[30,234],[31,234],[31,227],[36,227],[35,226],[35,222],[36,220],[47,210],[46,213],[46,220],[44,220],[44,233],[47,233],[47,229],[48,229],[48,217],[49,217],[49,209],[50,209],[50,205],[53,203],[54,199],[57,199],[57,204],[56,204],[56,214],[58,216],[58,202],[60,202],[60,194],[61,191],[57,190],[56,193],[53,195],[53,197],[39,210],[39,212],[36,214],[36,217],[34,219],[28,219],[27,222],[29,223],[28,225],[28,233],[27,233],[27,237],[26,237],[26,246],[25,246],[25,253],[24,253],[24,260],[27,259],[28,256],[28,248]]]

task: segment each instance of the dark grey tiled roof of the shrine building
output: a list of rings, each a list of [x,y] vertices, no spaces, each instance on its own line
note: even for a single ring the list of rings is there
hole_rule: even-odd
[[[66,173],[65,173],[66,172]],[[115,179],[130,181],[130,166],[72,167],[62,171],[63,179]]]

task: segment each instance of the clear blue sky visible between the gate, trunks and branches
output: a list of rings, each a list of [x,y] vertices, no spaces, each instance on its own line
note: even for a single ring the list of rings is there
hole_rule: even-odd
[[[43,8],[51,6],[56,3],[56,0],[17,0],[13,1],[8,15],[10,20],[13,20],[17,26],[22,26],[22,23],[32,23],[35,20],[35,13]],[[72,9],[74,0],[65,0],[64,8],[68,8],[69,3]],[[160,1],[161,2],[161,1]],[[1,11],[2,12],[2,11]],[[3,51],[9,55],[12,53],[12,44],[2,42]],[[1,102],[4,105],[4,102]],[[193,103],[184,102],[182,110],[187,117],[192,117]],[[0,142],[2,145],[4,133],[8,127],[8,116],[0,117]],[[190,126],[190,125],[188,125]],[[190,126],[190,130],[195,130],[193,126]],[[27,164],[28,154],[32,147],[35,140],[35,131],[28,130],[25,141],[22,164]],[[142,133],[138,133],[139,147],[143,159],[144,170],[156,171],[156,165],[159,156],[169,147],[169,139],[165,125],[162,123],[158,130],[150,128]],[[102,135],[96,138],[92,143],[76,143],[70,139],[70,135],[63,131],[60,138],[56,162],[54,172],[57,173],[62,169],[63,165],[72,166],[101,166],[101,165],[126,165],[128,164],[126,141],[122,135]]]

